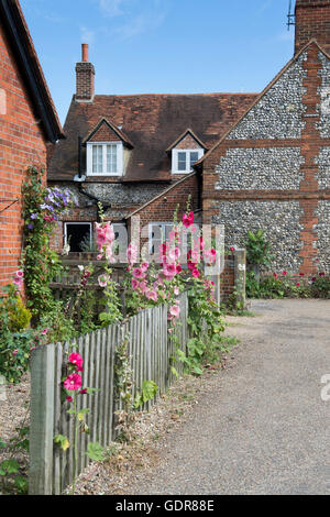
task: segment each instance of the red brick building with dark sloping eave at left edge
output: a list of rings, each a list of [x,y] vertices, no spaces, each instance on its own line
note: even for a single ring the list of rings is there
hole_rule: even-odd
[[[19,267],[26,169],[63,136],[20,3],[0,0],[0,286]]]

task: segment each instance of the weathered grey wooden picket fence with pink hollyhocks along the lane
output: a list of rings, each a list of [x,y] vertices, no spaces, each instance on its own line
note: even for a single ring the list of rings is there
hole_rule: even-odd
[[[176,336],[180,350],[186,353],[188,341],[188,298],[179,297],[180,316]],[[69,352],[84,358],[82,386],[98,388],[94,395],[80,395],[78,409],[89,408],[87,425],[90,435],[78,436],[79,474],[89,462],[86,455],[88,442],[107,447],[116,439],[114,411],[120,407],[116,399],[114,351],[124,340],[133,371],[133,396],[141,391],[144,381],[154,381],[158,395],[174,382],[172,371],[175,345],[168,333],[167,306],[146,309],[122,324],[84,336],[70,343],[48,344],[35,349],[31,361],[31,425],[30,476],[31,495],[58,495],[70,485],[74,475],[74,448],[63,451],[54,443],[56,435],[74,441],[74,418],[67,414],[69,403],[63,402],[63,378]],[[174,364],[180,374],[183,363]],[[156,397],[157,398],[157,397]],[[148,402],[150,409],[155,402]]]

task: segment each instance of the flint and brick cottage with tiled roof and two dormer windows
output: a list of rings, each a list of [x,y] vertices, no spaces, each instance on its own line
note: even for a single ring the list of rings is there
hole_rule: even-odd
[[[54,245],[90,239],[100,200],[107,219],[139,215],[166,235],[179,204],[223,223],[230,245],[262,228],[274,270],[330,272],[330,0],[296,1],[295,55],[260,95],[95,95],[82,45],[77,90],[53,150],[48,182],[79,207]]]

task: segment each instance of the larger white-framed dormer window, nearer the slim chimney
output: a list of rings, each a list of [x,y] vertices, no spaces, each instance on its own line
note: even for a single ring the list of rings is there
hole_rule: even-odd
[[[88,176],[122,176],[123,146],[122,142],[88,142],[87,143]]]

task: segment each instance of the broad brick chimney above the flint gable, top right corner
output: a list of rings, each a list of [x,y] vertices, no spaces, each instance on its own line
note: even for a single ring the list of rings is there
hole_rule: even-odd
[[[296,0],[295,53],[311,38],[330,53],[330,0]]]

